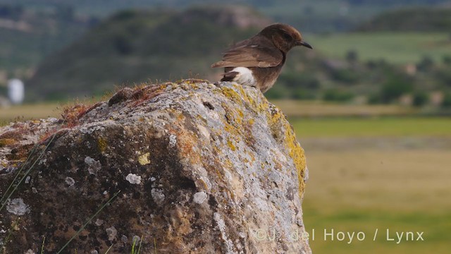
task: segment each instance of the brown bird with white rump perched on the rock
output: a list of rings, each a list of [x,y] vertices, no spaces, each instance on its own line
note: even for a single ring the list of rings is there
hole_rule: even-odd
[[[276,23],[233,45],[211,68],[224,67],[221,81],[235,81],[266,92],[276,83],[288,51],[295,46],[313,49],[295,28]]]

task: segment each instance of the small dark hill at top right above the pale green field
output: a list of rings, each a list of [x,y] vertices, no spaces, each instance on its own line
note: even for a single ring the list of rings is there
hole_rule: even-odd
[[[357,30],[451,32],[451,7],[390,11],[376,16]]]

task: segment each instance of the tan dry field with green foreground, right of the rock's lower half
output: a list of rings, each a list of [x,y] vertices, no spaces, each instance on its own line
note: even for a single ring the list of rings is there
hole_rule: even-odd
[[[307,150],[307,164],[304,222],[316,231],[314,253],[449,253],[451,150]],[[325,229],[366,238],[325,240]],[[388,240],[406,231],[414,240],[424,232],[424,241]]]

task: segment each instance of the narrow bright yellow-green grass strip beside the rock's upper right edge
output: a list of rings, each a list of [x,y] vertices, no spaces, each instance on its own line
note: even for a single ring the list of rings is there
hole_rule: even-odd
[[[290,119],[299,137],[451,136],[451,118]]]

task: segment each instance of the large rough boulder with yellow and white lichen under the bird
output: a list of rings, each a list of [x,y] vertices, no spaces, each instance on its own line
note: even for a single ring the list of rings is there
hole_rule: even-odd
[[[11,147],[38,144],[9,201],[23,209],[1,210],[7,253],[39,253],[44,236],[45,253],[58,251],[118,191],[65,253],[130,253],[137,236],[141,253],[311,253],[304,152],[257,89],[183,80],[73,110],[20,135],[0,128],[2,192],[26,160]]]

